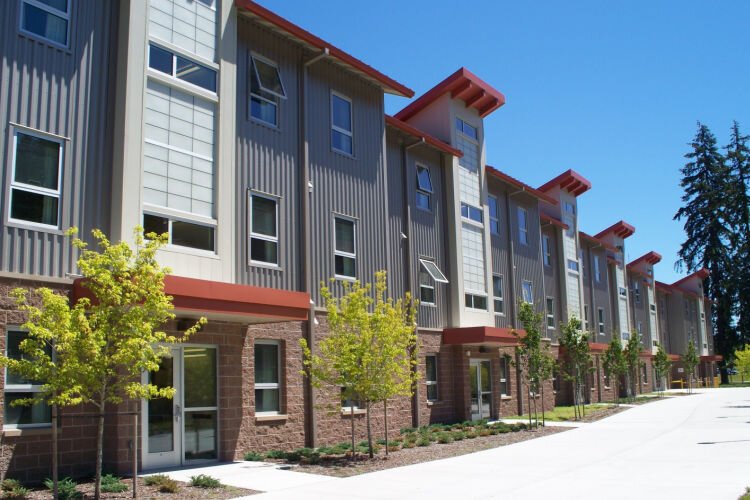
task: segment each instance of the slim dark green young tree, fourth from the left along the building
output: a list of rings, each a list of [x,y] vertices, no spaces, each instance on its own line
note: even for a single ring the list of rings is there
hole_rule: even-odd
[[[581,321],[575,316],[562,325],[562,335],[559,339],[560,352],[563,353],[561,367],[565,380],[573,387],[573,407],[576,420],[584,416],[583,391],[586,385],[586,375],[591,366],[591,349],[589,347],[588,332],[581,329]]]

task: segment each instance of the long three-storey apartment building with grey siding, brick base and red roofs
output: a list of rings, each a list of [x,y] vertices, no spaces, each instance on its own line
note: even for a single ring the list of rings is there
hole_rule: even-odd
[[[600,353],[639,322],[676,354],[694,324],[702,373],[715,369],[702,275],[659,284],[644,267],[653,256],[626,269],[627,223],[581,232],[576,199],[591,183],[580,174],[533,188],[488,166],[484,119],[505,97],[465,68],[387,116],[384,94],[413,91],[249,0],[12,0],[0,16],[18,20],[0,35],[0,344],[18,353],[24,337],[13,288],[84,293],[72,226],[114,241],[136,225],[168,232],[159,258],[178,319],[167,329],[208,318],[144,375],[175,387],[173,400],[113,409],[139,412],[143,469],[331,444],[352,418],[363,436],[367,411],[381,432],[379,408],[313,390],[299,347],[327,334],[321,282],[340,293],[380,269],[392,295],[420,299],[421,382],[390,403],[392,432],[564,399],[560,380],[543,395],[521,382],[521,301],[544,313],[555,353],[572,316],[596,333],[592,401],[610,398]],[[695,322],[667,312],[678,295]],[[49,475],[49,408],[9,404],[38,390],[2,377],[9,477]],[[86,410],[62,410],[64,475],[90,472]],[[131,422],[107,419],[108,470],[129,470]]]

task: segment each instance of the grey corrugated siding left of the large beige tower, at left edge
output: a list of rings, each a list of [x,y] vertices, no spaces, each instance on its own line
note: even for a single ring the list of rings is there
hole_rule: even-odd
[[[77,226],[88,239],[92,228],[109,229],[110,165],[117,2],[72,2],[70,50],[18,33],[20,2],[0,2],[0,270],[64,277],[75,254],[59,233],[5,224],[12,171],[13,127],[18,123],[68,138],[65,142],[61,228]]]

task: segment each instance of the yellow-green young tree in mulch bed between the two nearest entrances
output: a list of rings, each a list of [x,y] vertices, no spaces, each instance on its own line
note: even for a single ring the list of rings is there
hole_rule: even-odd
[[[345,282],[344,294],[336,298],[321,285],[328,312],[329,334],[312,352],[305,339],[304,374],[314,387],[342,388],[342,397],[358,399],[367,410],[367,441],[373,456],[371,407],[396,396],[411,396],[418,379],[416,367],[416,303],[387,297],[386,273],[375,274],[375,291],[370,284]],[[352,414],[353,414],[352,407]],[[356,449],[354,419],[351,424],[352,450]]]

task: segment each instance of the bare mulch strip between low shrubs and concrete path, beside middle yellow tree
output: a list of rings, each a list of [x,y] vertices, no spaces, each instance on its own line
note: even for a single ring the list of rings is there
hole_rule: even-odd
[[[509,432],[506,434],[495,434],[493,436],[480,436],[474,439],[464,439],[463,441],[453,441],[452,443],[447,444],[433,443],[430,446],[424,447],[402,448],[401,450],[390,452],[387,457],[382,451],[373,459],[368,458],[367,455],[361,454],[357,455],[354,460],[342,456],[326,459],[315,465],[300,464],[293,467],[292,470],[308,472],[311,474],[323,474],[326,476],[350,477],[364,474],[366,472],[429,462],[441,458],[456,457],[542,436],[549,436],[550,434],[556,434],[566,430],[569,429],[562,427],[540,427],[533,431]]]

